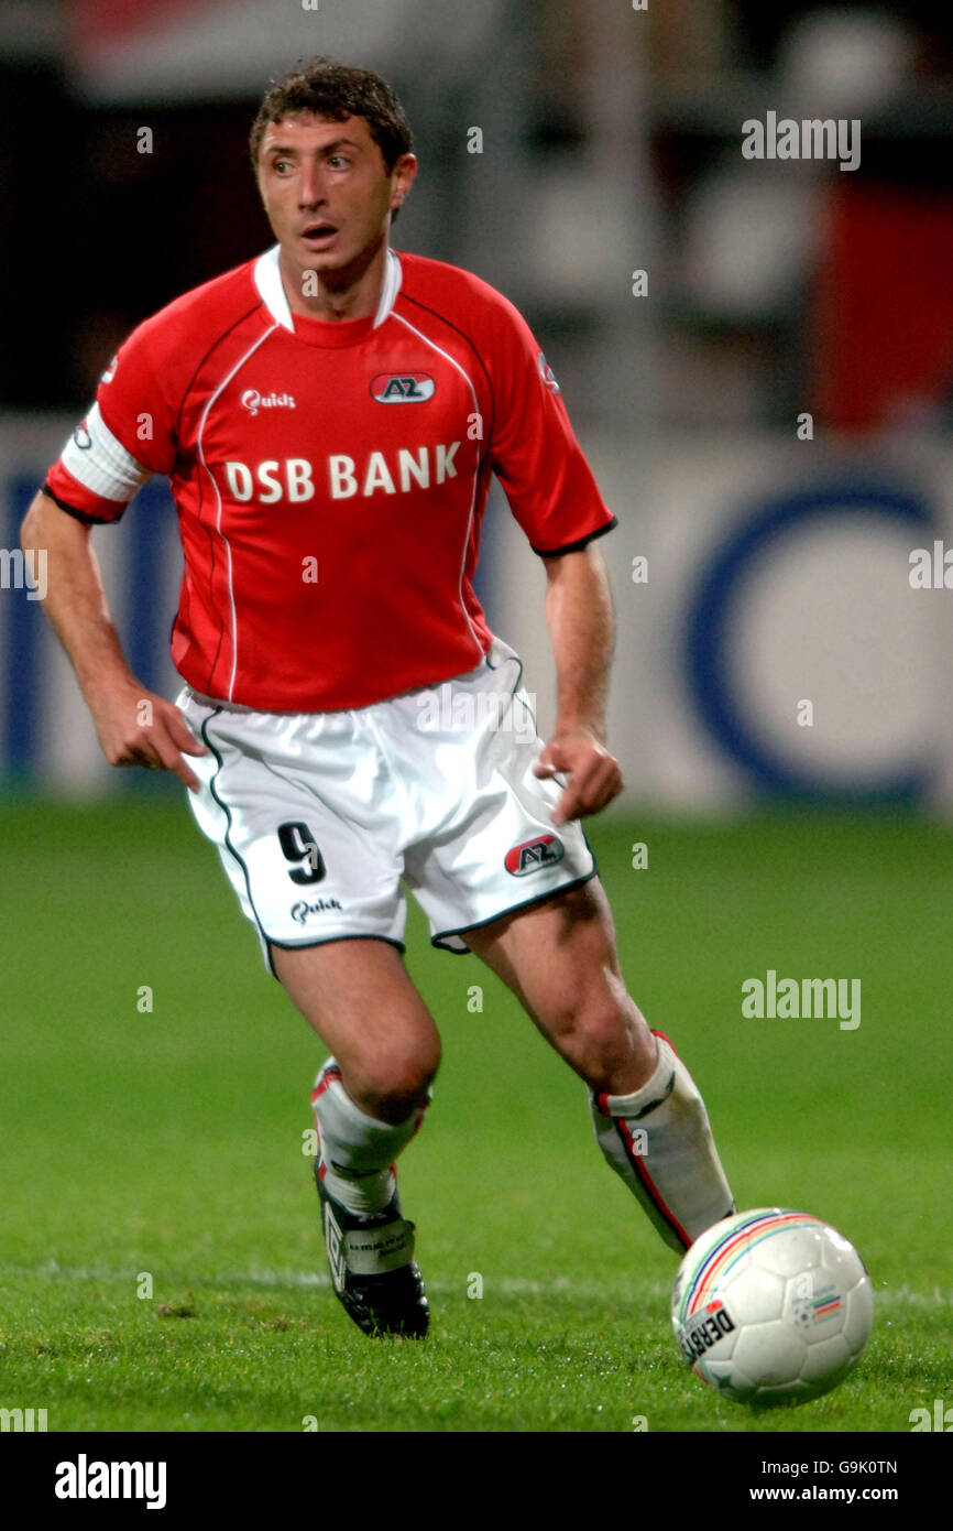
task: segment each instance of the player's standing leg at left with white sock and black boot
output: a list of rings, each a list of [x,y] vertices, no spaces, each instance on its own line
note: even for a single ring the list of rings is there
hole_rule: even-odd
[[[428,1306],[395,1159],[424,1119],[439,1067],[433,1017],[385,942],[272,946],[271,955],[289,997],[333,1053],[312,1105],[335,1292],[366,1334],[424,1335]]]

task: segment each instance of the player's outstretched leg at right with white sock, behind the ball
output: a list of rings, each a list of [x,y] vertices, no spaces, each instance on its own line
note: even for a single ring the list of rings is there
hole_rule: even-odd
[[[589,1085],[607,1162],[684,1252],[734,1203],[688,1070],[626,992],[601,885],[468,931],[467,943]]]

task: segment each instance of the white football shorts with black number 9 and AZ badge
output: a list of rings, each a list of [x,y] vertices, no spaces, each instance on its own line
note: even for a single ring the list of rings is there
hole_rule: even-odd
[[[210,753],[188,793],[271,968],[274,946],[376,937],[404,949],[407,900],[431,942],[595,876],[566,779],[532,775],[542,741],[522,663],[500,638],[467,675],[344,712],[257,712],[176,698]]]

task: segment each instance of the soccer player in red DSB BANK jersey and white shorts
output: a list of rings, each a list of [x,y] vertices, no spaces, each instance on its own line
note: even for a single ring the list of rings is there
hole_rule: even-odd
[[[626,992],[580,825],[623,784],[594,545],[615,516],[555,377],[500,292],[392,248],[416,159],[379,75],[286,75],[251,156],[275,245],[133,331],[23,545],[47,550],[46,612],[107,759],[190,788],[332,1053],[312,1104],[337,1295],[367,1334],[422,1335],[395,1160],[441,1040],[402,960],[401,879],[433,943],[480,957],[584,1081],[606,1159],[673,1249],[733,1199],[688,1070]],[[125,664],[89,540],[153,473],[185,554],[174,704]],[[545,744],[473,589],[493,473],[548,576]]]

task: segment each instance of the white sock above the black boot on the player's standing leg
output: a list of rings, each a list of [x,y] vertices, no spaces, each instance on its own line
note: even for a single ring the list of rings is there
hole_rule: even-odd
[[[350,1213],[381,1213],[396,1188],[393,1160],[424,1121],[427,1105],[396,1127],[369,1116],[347,1095],[333,1058],[320,1070],[311,1104],[324,1190]]]

